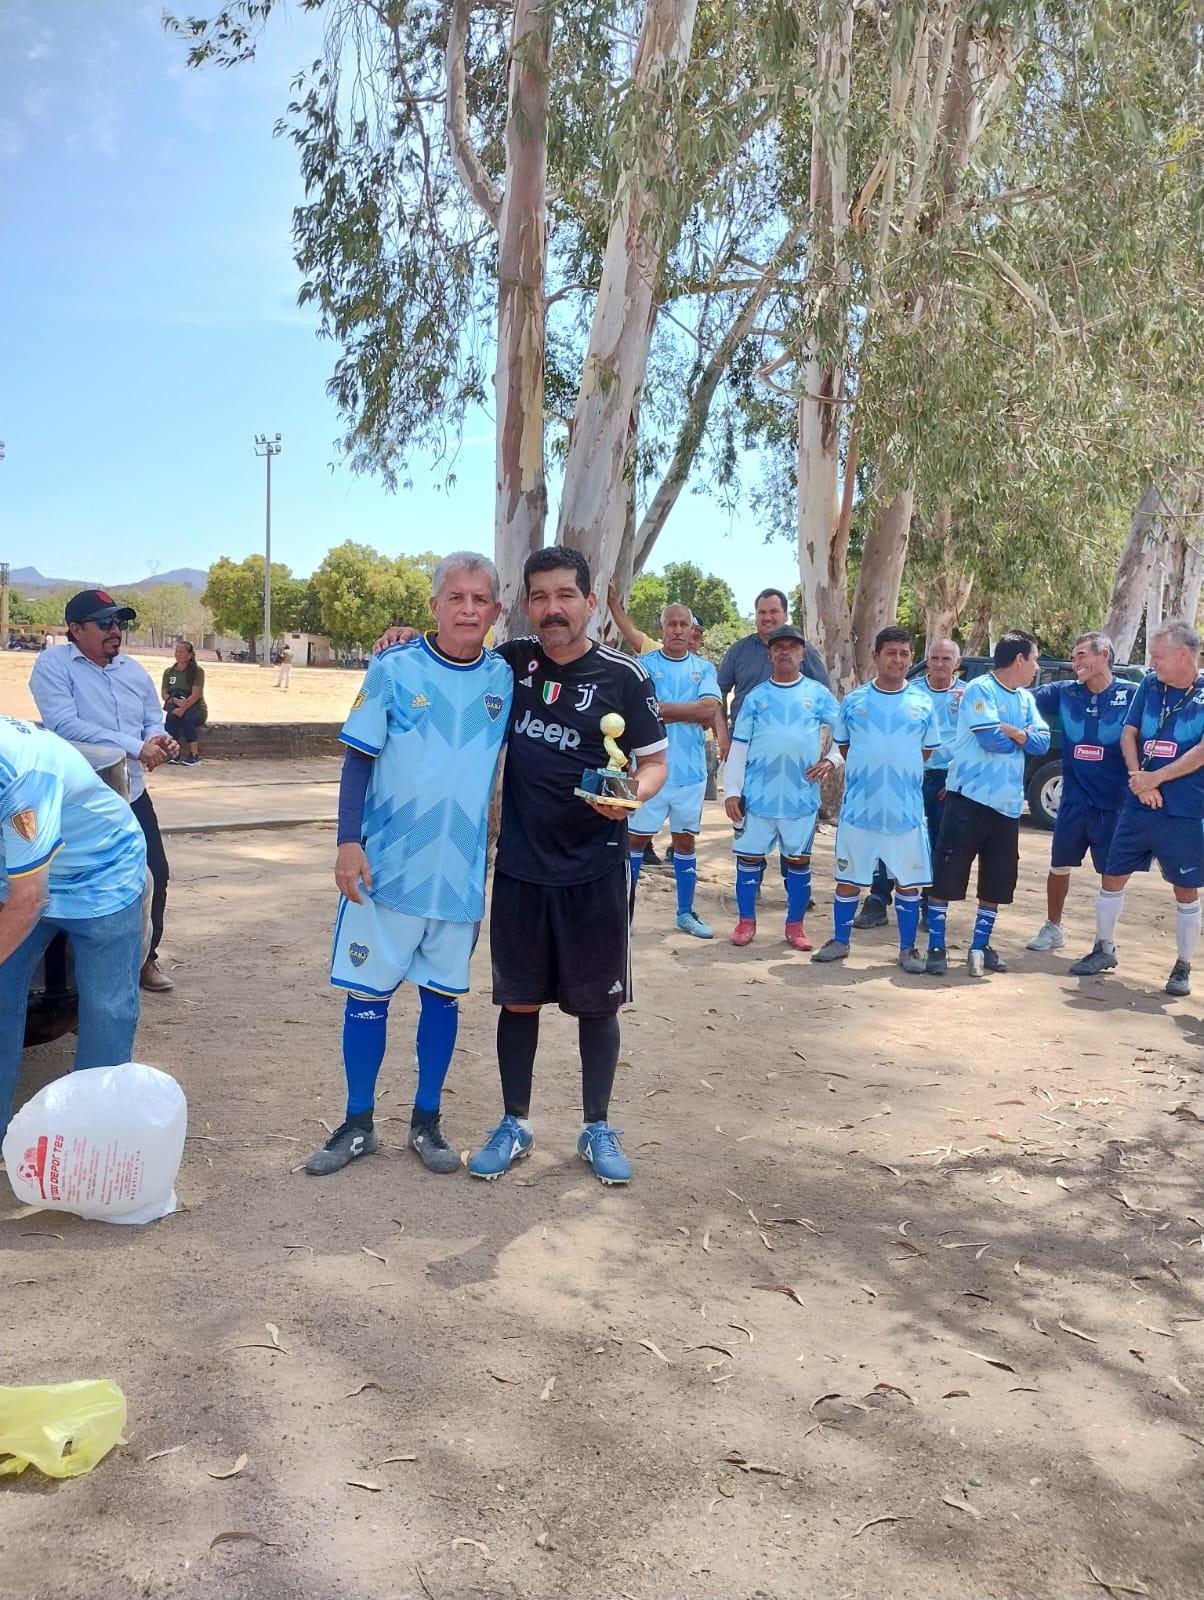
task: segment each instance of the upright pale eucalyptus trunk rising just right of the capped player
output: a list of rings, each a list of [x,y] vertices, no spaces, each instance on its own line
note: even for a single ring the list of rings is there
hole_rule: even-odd
[[[836,683],[853,678],[849,613],[849,517],[841,504],[841,387],[844,373],[847,280],[844,232],[849,221],[849,94],[852,85],[853,0],[825,0],[817,40],[812,96],[809,274],[829,288],[815,296],[815,320],[802,352],[799,397],[799,587],[804,630]],[[825,298],[833,304],[825,317]],[[820,326],[839,328],[829,347]],[[833,355],[831,344],[839,347]]]

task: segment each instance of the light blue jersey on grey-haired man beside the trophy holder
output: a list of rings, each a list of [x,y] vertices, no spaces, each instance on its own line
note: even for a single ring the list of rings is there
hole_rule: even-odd
[[[484,917],[488,803],[512,694],[514,674],[492,650],[466,664],[424,637],[371,658],[339,738],[376,758],[363,850],[381,906]]]

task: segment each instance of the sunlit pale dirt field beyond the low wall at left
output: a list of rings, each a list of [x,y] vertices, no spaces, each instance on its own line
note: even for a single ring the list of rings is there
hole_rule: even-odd
[[[167,654],[131,651],[155,683],[168,664]],[[0,650],[0,712],[34,717],[29,674],[37,656],[24,650]],[[362,672],[338,667],[293,667],[288,690],[277,690],[275,669],[205,661],[205,704],[210,722],[343,722],[355,698]]]

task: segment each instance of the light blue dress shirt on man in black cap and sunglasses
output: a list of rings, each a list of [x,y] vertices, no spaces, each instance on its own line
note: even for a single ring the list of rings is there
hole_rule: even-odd
[[[146,667],[125,654],[98,667],[78,645],[56,645],[34,662],[29,691],[43,725],[59,738],[120,746],[126,754],[130,798],[142,794],[142,746],[152,733],[165,731],[163,706]]]

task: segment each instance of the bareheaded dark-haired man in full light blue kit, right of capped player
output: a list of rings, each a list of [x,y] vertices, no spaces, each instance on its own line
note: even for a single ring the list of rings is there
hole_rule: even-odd
[[[845,757],[844,800],[836,829],[833,938],[813,962],[849,955],[857,902],[877,862],[898,885],[898,965],[922,973],[916,949],[919,893],[932,878],[932,846],[924,818],[924,763],[940,744],[940,718],[919,683],[908,683],[914,661],[905,627],[874,638],[874,677],[841,704],[836,742]]]

